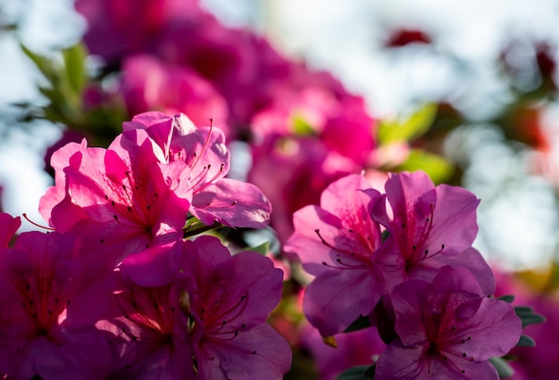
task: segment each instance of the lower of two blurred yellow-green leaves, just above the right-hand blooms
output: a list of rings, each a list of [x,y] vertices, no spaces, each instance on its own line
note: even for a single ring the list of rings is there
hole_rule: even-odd
[[[438,154],[425,152],[419,149],[412,149],[410,155],[402,165],[396,168],[397,171],[425,171],[435,184],[440,184],[450,178],[454,167],[446,159]]]

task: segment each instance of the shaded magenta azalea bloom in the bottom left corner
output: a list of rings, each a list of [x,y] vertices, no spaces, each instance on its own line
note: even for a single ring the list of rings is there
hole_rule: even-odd
[[[43,379],[108,374],[109,346],[95,324],[110,301],[112,277],[74,257],[76,247],[69,235],[29,232],[13,249],[0,249],[0,373]]]

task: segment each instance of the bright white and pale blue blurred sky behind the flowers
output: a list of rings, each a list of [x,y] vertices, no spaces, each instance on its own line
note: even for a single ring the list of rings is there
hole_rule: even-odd
[[[83,21],[71,4],[70,0],[0,0],[0,22],[21,21],[21,41],[47,52],[70,45],[82,33]],[[507,41],[545,37],[559,45],[559,2],[203,0],[203,4],[224,23],[249,25],[294,59],[305,58],[312,67],[332,71],[363,95],[371,114],[380,118],[408,112],[422,102],[453,99],[472,122],[448,139],[446,149],[449,155],[462,152],[471,160],[464,186],[482,199],[476,242],[480,251],[511,268],[541,265],[555,253],[557,241],[551,236],[557,235],[559,223],[552,186],[530,176],[526,158],[503,145],[503,136],[495,128],[476,119],[506,101],[493,62]],[[436,47],[409,46],[398,54],[381,49],[388,31],[398,27],[431,33]],[[40,76],[13,35],[0,33],[4,209],[14,215],[27,212],[43,223],[37,205],[51,179],[42,171],[42,154],[60,131],[47,123],[34,123],[27,131],[16,128],[7,108],[8,103],[22,100],[40,101],[38,81]],[[551,128],[555,124],[551,118]],[[25,223],[23,229],[34,227]]]

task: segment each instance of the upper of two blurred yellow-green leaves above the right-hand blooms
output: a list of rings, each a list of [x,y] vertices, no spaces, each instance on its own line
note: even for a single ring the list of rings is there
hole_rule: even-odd
[[[425,104],[405,120],[382,120],[379,123],[379,142],[386,145],[396,141],[413,141],[429,130],[437,116],[437,104]]]

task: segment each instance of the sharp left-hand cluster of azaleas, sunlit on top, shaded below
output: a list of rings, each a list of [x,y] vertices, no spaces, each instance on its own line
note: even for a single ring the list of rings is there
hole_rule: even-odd
[[[288,372],[288,343],[266,323],[280,302],[281,270],[189,230],[269,220],[270,203],[255,186],[223,178],[229,151],[219,129],[147,112],[125,123],[108,149],[71,143],[52,164],[55,185],[40,211],[54,232],[22,233],[9,247],[21,221],[0,214],[1,374]]]

